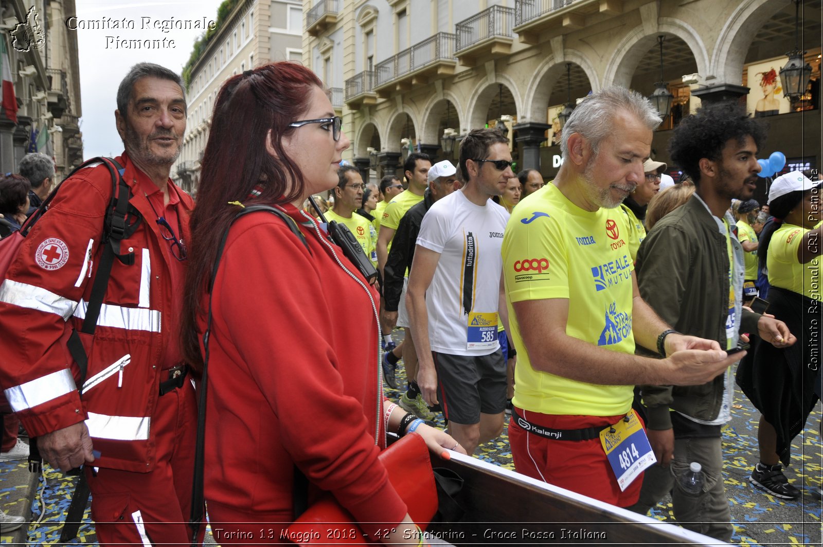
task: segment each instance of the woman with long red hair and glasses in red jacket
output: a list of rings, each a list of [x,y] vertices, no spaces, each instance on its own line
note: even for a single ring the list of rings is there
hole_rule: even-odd
[[[282,541],[295,471],[309,481],[309,502],[330,492],[370,539],[416,545],[378,460],[386,432],[416,431],[436,454],[459,450],[384,399],[377,292],[300,209],[337,185],[347,147],[321,82],[300,64],[247,70],[217,96],[191,219],[182,338],[202,369],[211,306],[205,497],[222,545]],[[232,223],[253,204],[291,221],[258,212]],[[394,532],[377,533],[385,529]]]

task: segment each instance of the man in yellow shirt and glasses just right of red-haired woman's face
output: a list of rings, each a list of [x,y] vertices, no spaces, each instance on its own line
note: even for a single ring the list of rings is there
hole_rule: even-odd
[[[345,224],[355,236],[363,252],[372,264],[377,265],[377,232],[365,217],[355,214],[363,199],[363,178],[355,166],[342,166],[337,171],[337,187],[334,189],[334,207],[324,215],[326,220]]]

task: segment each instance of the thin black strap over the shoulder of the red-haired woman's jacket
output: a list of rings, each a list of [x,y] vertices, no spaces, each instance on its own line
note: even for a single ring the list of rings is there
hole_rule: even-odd
[[[209,278],[207,294],[211,295],[212,290],[214,289],[214,281],[217,278],[217,268],[220,266],[220,260],[223,256],[223,248],[226,246],[226,240],[229,237],[229,230],[231,225],[239,218],[243,217],[244,215],[250,213],[257,213],[258,211],[267,211],[268,213],[272,213],[281,217],[283,222],[286,222],[286,226],[289,227],[291,232],[300,238],[300,241],[303,242],[306,249],[309,249],[309,243],[306,241],[303,232],[300,231],[300,227],[297,226],[297,222],[294,221],[293,218],[288,216],[286,213],[283,213],[281,209],[269,207],[267,205],[250,205],[249,207],[243,208],[240,210],[234,218],[231,219],[229,222],[229,226],[226,227],[226,231],[223,231],[223,236],[221,237],[220,244],[217,245],[217,256],[214,261],[214,266],[212,267],[212,276]],[[311,252],[311,250],[309,250]],[[200,535],[200,525],[203,519],[203,507],[205,504],[205,499],[203,498],[203,452],[205,450],[205,442],[206,442],[206,401],[207,401],[207,387],[208,387],[208,361],[209,361],[209,348],[208,348],[208,340],[209,335],[212,332],[212,298],[209,297],[208,302],[208,315],[206,318],[206,331],[203,333],[203,370],[200,379],[200,402],[198,404],[198,436],[197,441],[195,442],[194,447],[194,476],[192,481],[192,512],[191,517],[188,519],[188,526],[192,529],[192,547],[196,547],[198,545],[198,535]],[[297,474],[300,473],[295,466],[295,478]],[[300,474],[302,475],[302,474]],[[304,476],[305,479],[305,476]],[[306,481],[306,484],[308,482]],[[305,489],[295,488],[295,498],[297,498],[296,492],[298,490],[303,490],[303,497],[307,494]],[[295,499],[295,502],[303,503],[299,499]]]

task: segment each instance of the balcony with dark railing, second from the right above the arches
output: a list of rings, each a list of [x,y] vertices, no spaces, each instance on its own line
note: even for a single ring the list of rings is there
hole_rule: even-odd
[[[492,6],[454,26],[458,35],[454,55],[464,67],[473,67],[480,55],[511,53],[514,7]]]

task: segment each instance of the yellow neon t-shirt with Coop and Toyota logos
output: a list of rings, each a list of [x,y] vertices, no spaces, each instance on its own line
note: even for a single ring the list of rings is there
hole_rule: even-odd
[[[635,269],[619,208],[588,212],[553,184],[514,209],[503,236],[506,302],[514,347],[514,404],[542,414],[614,416],[631,407],[633,386],[602,386],[532,368],[512,302],[566,298],[566,334],[621,353],[635,352],[631,330]],[[585,366],[585,363],[581,363]]]

